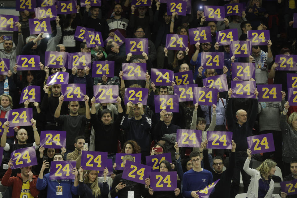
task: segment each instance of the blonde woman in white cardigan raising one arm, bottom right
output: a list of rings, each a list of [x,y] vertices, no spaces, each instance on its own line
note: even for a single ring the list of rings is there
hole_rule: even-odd
[[[247,198],[271,198],[274,189],[271,176],[276,171],[276,162],[267,159],[258,168],[251,169],[248,166],[252,158],[252,151],[248,149],[247,154],[248,158],[243,165],[243,170],[252,177],[248,186]]]

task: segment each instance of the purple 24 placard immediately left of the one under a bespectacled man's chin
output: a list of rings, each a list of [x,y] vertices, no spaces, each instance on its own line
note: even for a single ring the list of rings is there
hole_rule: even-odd
[[[151,69],[151,82],[156,86],[165,85],[171,86],[173,81],[173,71],[167,69]]]

